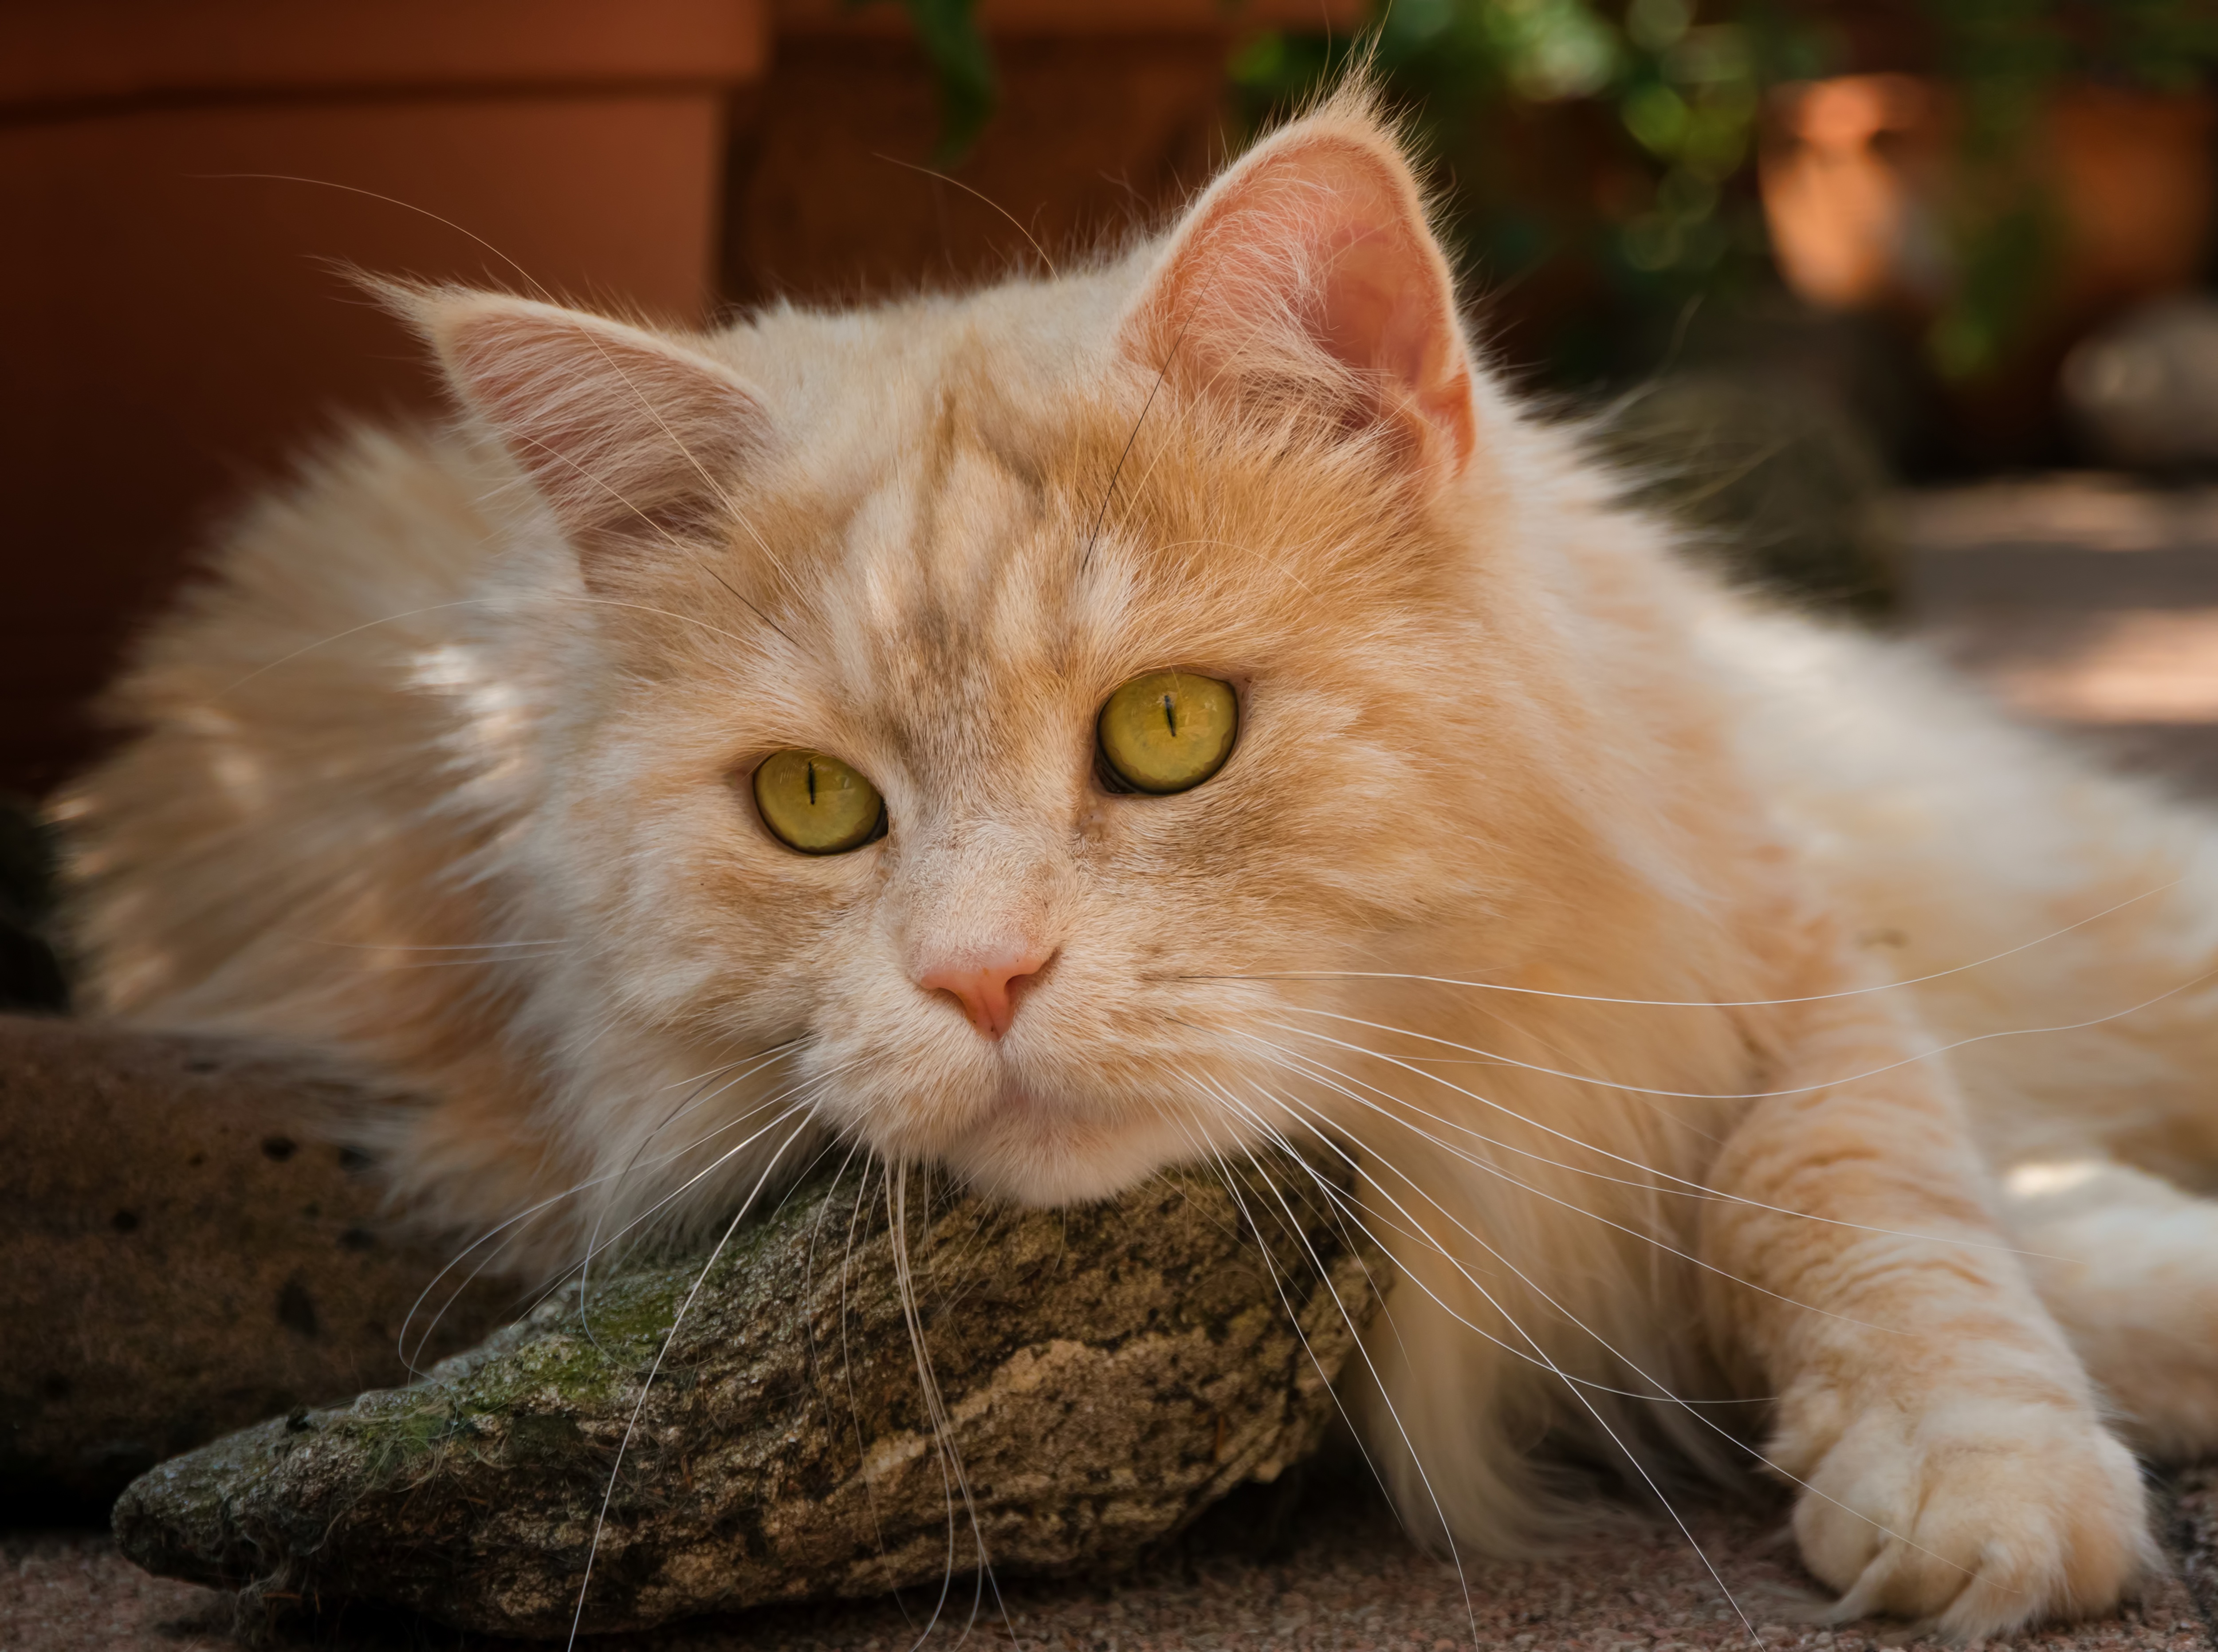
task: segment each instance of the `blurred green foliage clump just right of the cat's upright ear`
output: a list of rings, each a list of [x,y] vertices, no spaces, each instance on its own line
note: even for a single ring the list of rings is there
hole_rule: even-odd
[[[1550,377],[1612,377],[1697,295],[1763,279],[1748,186],[1766,84],[1823,67],[1768,4],[1395,0],[1355,40],[1264,35],[1231,78],[1251,126],[1364,60],[1451,180],[1446,231],[1502,290],[1599,279],[1537,346]]]

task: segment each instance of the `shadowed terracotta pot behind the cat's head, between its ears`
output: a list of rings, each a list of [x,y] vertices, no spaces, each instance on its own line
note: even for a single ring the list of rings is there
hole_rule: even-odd
[[[779,55],[734,135],[736,299],[954,286],[1151,226],[1224,157],[1224,67],[1260,29],[1362,27],[1366,0],[980,0],[1000,102],[932,169],[938,89],[889,0],[776,0]]]

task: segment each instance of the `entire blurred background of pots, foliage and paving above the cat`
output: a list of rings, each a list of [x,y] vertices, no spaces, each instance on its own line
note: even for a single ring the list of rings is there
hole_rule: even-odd
[[[348,266],[958,284],[1353,58],[1493,359],[1701,554],[2218,787],[2218,0],[0,0],[0,792],[291,452],[435,406]]]

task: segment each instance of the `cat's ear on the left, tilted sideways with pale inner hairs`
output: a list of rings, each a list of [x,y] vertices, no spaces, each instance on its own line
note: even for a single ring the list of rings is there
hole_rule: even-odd
[[[770,439],[739,377],[623,322],[501,293],[384,295],[523,466],[590,588],[730,517],[728,488]]]

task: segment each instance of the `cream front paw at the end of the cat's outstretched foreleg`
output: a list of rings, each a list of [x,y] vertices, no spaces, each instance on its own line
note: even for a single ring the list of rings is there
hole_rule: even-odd
[[[1956,1641],[2114,1608],[2156,1566],[2140,1468],[2078,1408],[1863,1413],[1803,1477],[1794,1537],[1841,1592]]]

